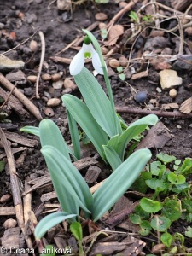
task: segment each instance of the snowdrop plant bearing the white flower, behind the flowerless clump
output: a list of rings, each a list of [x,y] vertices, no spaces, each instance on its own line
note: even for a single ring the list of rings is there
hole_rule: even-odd
[[[108,162],[115,170],[125,160],[125,148],[131,139],[144,131],[148,125],[155,125],[158,118],[154,114],[149,114],[122,130],[121,120],[115,111],[113,92],[102,50],[93,34],[87,30],[84,32],[86,36],[83,47],[74,56],[69,67],[84,102],[68,94],[62,96],[62,101],[67,108],[69,129],[76,157],[79,158],[80,155],[76,125],[78,123],[96,147],[102,160]],[[86,57],[92,57],[97,73],[104,75],[108,96],[93,74],[84,67],[84,58]]]

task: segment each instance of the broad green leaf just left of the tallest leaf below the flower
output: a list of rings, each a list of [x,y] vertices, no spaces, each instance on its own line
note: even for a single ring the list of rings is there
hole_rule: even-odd
[[[90,141],[94,144],[102,159],[105,160],[102,145],[108,143],[108,135],[102,130],[100,125],[96,123],[90,110],[84,102],[81,102],[78,98],[72,95],[66,94],[62,96],[62,101],[65,103],[67,110],[72,114],[73,119],[76,120],[86,135],[90,138]]]

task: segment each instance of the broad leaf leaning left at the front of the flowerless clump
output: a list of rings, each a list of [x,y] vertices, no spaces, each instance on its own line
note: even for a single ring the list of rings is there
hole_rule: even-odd
[[[56,148],[44,146],[41,152],[44,155],[56,195],[63,210],[77,214],[76,207],[78,204],[84,210],[85,218],[89,217],[87,213],[92,210],[93,198],[79,171]],[[66,193],[64,194],[64,192]],[[68,195],[71,197],[68,198]],[[73,205],[75,206],[73,207]]]

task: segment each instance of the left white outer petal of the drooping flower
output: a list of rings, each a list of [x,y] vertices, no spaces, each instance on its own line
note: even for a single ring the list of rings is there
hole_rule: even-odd
[[[81,72],[83,67],[84,67],[84,47],[82,47],[79,50],[79,53],[74,56],[69,66],[69,72],[71,75],[75,76]]]

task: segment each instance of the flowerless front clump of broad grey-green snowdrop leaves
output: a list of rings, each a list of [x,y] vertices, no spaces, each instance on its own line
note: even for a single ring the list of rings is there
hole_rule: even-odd
[[[26,126],[20,130],[40,137],[41,153],[44,155],[63,211],[51,213],[38,223],[35,229],[37,239],[65,219],[69,223],[77,221],[79,209],[84,213],[84,218],[90,218],[96,222],[129,189],[151,158],[148,149],[137,150],[116,168],[115,172],[92,195],[84,178],[73,166],[69,156],[71,150],[53,121],[44,119],[39,127]]]

